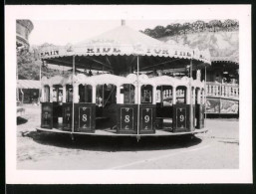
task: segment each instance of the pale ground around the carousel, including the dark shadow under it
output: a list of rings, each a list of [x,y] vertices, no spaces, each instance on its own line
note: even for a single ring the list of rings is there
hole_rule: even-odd
[[[87,137],[38,133],[40,106],[17,126],[19,169],[230,169],[239,167],[237,119],[207,119],[209,132],[178,137]]]

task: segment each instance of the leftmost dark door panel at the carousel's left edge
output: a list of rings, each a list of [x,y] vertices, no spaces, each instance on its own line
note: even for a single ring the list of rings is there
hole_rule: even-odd
[[[41,127],[53,128],[53,103],[42,102]]]

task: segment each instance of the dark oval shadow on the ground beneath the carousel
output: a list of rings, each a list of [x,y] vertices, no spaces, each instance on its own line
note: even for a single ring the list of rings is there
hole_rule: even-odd
[[[34,141],[51,146],[71,149],[83,149],[94,151],[144,151],[184,148],[201,142],[200,138],[190,136],[154,136],[141,137],[139,141],[135,137],[125,136],[84,136],[77,135],[71,139],[70,134],[48,133],[30,131],[23,136],[30,137]]]

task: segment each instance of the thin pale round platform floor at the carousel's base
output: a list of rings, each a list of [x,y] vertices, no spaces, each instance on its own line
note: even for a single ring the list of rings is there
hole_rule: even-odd
[[[37,131],[42,131],[42,132],[72,134],[71,131],[65,131],[58,128],[47,129],[47,128],[37,127],[36,129]],[[92,136],[137,136],[137,135],[139,136],[173,136],[173,135],[206,133],[207,131],[208,131],[207,128],[195,129],[189,132],[172,132],[166,129],[155,129],[155,133],[150,133],[150,134],[121,134],[121,133],[117,133],[116,129],[107,128],[107,129],[96,129],[95,132],[73,132],[73,134],[83,134],[83,135],[92,135]]]

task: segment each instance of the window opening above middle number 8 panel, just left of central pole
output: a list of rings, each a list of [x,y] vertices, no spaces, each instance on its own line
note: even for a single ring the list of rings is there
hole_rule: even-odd
[[[134,103],[135,87],[133,85],[123,85],[121,87],[121,103]]]

